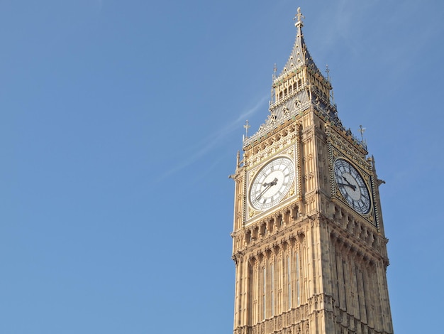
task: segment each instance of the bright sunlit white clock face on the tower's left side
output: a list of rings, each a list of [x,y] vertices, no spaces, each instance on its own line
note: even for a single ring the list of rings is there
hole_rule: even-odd
[[[250,187],[250,204],[266,210],[287,195],[294,180],[294,164],[289,158],[276,158],[257,173]]]

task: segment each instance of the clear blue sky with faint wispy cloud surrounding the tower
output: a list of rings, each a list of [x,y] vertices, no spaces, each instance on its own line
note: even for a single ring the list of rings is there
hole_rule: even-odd
[[[0,0],[0,333],[230,333],[233,181],[296,9],[377,163],[396,333],[436,333],[444,2]]]

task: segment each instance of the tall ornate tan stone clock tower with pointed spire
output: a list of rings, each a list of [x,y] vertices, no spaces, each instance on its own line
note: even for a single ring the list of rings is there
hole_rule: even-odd
[[[302,34],[235,174],[235,334],[393,333],[374,159]]]

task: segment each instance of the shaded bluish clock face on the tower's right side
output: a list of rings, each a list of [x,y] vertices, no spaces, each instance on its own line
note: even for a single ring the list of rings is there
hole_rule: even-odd
[[[356,168],[344,159],[337,159],[334,173],[338,189],[348,205],[362,215],[370,212],[370,193]]]

